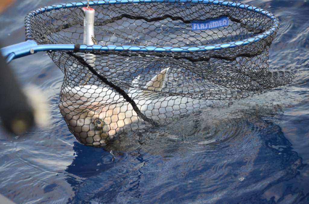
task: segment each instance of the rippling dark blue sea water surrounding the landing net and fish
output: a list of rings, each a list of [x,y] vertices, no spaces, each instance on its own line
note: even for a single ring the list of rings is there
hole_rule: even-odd
[[[62,1],[17,2],[0,16],[4,45],[24,40],[29,11]],[[52,120],[20,137],[1,131],[0,193],[17,203],[309,203],[309,1],[242,2],[279,17],[270,69],[293,72],[293,83],[123,134],[105,150],[69,132],[63,74],[47,55],[14,60],[20,82],[48,96]]]

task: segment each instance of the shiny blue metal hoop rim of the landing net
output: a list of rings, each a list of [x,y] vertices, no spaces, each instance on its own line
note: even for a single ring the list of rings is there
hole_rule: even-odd
[[[98,1],[90,1],[90,6],[99,6],[99,5],[112,5],[112,4],[129,4],[129,3],[202,3],[202,4],[213,4],[218,6],[229,6],[235,7],[239,9],[246,9],[252,12],[260,13],[268,18],[270,18],[273,22],[272,27],[262,34],[256,35],[252,38],[243,39],[234,42],[221,43],[221,44],[212,44],[212,45],[203,45],[203,46],[193,46],[193,47],[156,47],[156,46],[135,46],[135,45],[125,45],[125,46],[115,46],[115,45],[93,45],[87,46],[82,45],[80,47],[81,51],[133,51],[133,52],[181,52],[181,53],[189,53],[189,52],[205,52],[205,51],[215,51],[222,49],[229,49],[238,46],[246,46],[250,43],[257,43],[261,39],[266,39],[269,36],[275,34],[279,29],[279,20],[278,18],[271,12],[264,10],[262,8],[251,6],[239,2],[230,2],[230,1],[222,1],[222,0],[98,0]],[[30,24],[27,23],[31,17],[48,12],[50,10],[58,10],[58,9],[66,9],[66,8],[74,8],[74,7],[82,7],[87,6],[87,1],[83,2],[72,2],[72,3],[63,3],[56,4],[52,6],[45,6],[40,9],[36,9],[28,14],[26,17],[26,38],[31,39],[32,29]],[[45,47],[47,46],[47,47]],[[49,45],[43,45],[45,49],[48,48]],[[74,50],[74,45],[70,44],[53,44],[50,45],[51,50]]]

